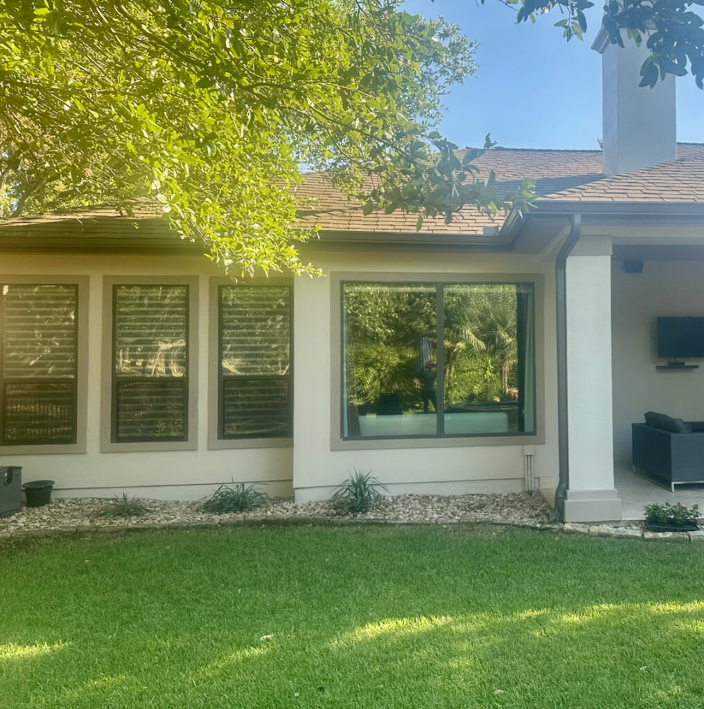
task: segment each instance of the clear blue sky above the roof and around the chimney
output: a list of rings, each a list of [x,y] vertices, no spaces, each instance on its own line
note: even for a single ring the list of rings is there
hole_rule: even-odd
[[[601,137],[601,57],[590,49],[602,4],[588,13],[583,41],[566,43],[552,11],[535,24],[514,23],[498,0],[406,0],[404,9],[444,16],[480,46],[475,77],[454,86],[441,133],[458,145],[481,145],[491,133],[505,147],[597,149]],[[642,89],[648,91],[649,89]],[[704,91],[677,79],[678,140],[704,143]]]

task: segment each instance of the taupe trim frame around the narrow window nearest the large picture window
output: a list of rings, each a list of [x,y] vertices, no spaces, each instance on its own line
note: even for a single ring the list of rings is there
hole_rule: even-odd
[[[209,284],[209,368],[208,368],[208,448],[209,450],[227,450],[236,448],[290,448],[293,437],[256,437],[256,438],[221,438],[221,372],[220,372],[220,287],[232,286],[289,286],[291,289],[290,313],[290,374],[289,401],[291,430],[295,425],[294,409],[294,328],[295,328],[295,289],[293,281],[286,277],[253,278],[237,283],[226,277],[211,277]]]

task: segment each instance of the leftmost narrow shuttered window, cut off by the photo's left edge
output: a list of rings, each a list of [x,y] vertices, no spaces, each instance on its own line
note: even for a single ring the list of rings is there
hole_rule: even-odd
[[[0,313],[3,445],[76,442],[75,284],[4,284]]]

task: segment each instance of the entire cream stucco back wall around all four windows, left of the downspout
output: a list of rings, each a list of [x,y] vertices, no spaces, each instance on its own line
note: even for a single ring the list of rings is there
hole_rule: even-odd
[[[3,255],[2,274],[89,277],[87,452],[84,454],[0,453],[0,465],[23,466],[23,479],[54,479],[57,496],[111,496],[121,491],[155,498],[197,499],[234,481],[266,482],[273,496],[299,501],[326,498],[353,468],[370,470],[391,493],[510,492],[524,488],[524,455],[534,454],[538,484],[557,476],[554,261],[541,255],[458,254],[395,251],[331,251],[320,246],[307,257],[326,272],[408,272],[432,280],[434,274],[541,274],[543,415],[538,445],[524,448],[510,439],[497,445],[457,445],[453,440],[417,442],[383,450],[331,450],[331,391],[338,391],[331,368],[331,278],[294,281],[294,446],[208,449],[209,287],[217,269],[204,257],[121,255]],[[197,450],[101,452],[101,368],[104,277],[195,276],[199,288],[197,323],[199,368]],[[293,480],[295,479],[295,484]]]

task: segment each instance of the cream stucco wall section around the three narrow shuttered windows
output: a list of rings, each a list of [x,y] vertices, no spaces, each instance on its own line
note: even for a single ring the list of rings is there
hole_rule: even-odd
[[[165,499],[198,499],[230,481],[264,482],[272,496],[292,494],[290,447],[208,450],[209,277],[218,270],[204,257],[118,255],[2,255],[0,277],[89,277],[88,425],[85,454],[0,454],[0,465],[21,465],[23,480],[53,479],[57,496],[111,496],[131,491]],[[100,452],[104,276],[197,276],[199,281],[197,450]],[[192,333],[193,334],[193,333]]]

